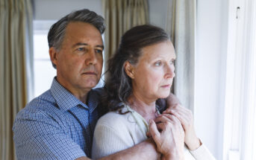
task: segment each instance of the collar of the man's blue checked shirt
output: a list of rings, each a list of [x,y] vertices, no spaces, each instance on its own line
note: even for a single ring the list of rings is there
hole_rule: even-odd
[[[72,107],[78,106],[78,105],[81,105],[86,109],[89,109],[89,107],[86,104],[81,102],[81,100],[78,100],[77,97],[72,95],[72,93],[70,93],[62,85],[60,85],[60,83],[57,82],[56,77],[54,77],[51,83],[50,90],[51,90],[51,95],[55,98],[56,103],[60,107],[60,109],[67,111],[69,109],[72,109]],[[88,102],[90,101],[88,100]]]

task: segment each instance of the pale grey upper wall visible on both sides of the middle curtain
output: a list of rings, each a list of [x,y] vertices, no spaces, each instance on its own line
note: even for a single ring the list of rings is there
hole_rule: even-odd
[[[149,0],[149,22],[166,28],[169,0]],[[102,0],[34,0],[34,19],[56,21],[72,10],[87,8],[103,16]]]

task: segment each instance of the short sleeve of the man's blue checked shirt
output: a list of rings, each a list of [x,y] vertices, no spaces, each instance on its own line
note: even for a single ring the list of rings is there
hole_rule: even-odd
[[[78,159],[86,156],[58,121],[44,112],[21,112],[13,124],[18,159]]]

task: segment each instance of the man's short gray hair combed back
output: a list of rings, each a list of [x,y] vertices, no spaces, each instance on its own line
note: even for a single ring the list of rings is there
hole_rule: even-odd
[[[76,10],[51,25],[48,33],[49,48],[54,47],[57,51],[60,51],[61,44],[66,33],[66,26],[69,24],[69,22],[89,23],[90,25],[96,27],[100,33],[104,33],[106,28],[102,16],[99,16],[97,13],[87,9]],[[54,68],[56,68],[53,63],[52,65]]]

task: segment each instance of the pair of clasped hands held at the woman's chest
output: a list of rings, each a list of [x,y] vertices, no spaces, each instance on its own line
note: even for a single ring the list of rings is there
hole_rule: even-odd
[[[152,136],[161,159],[184,159],[184,144],[189,150],[196,150],[201,142],[196,136],[193,114],[180,104],[169,106],[162,115],[149,122],[149,136]]]

